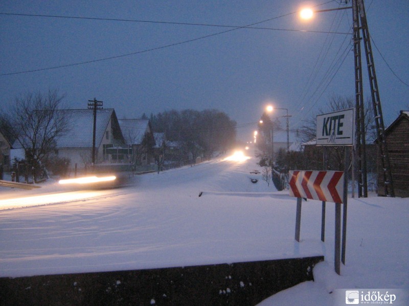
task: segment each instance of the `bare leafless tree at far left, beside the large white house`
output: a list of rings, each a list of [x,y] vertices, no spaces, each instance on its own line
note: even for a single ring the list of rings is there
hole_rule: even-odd
[[[33,167],[35,176],[44,159],[56,148],[57,138],[66,133],[68,120],[58,112],[64,95],[56,90],[46,94],[27,93],[17,97],[10,110],[12,134],[25,150],[26,160]]]

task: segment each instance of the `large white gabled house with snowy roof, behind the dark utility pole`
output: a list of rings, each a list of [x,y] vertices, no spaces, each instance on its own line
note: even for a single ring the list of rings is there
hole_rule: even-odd
[[[67,131],[56,138],[55,155],[70,160],[70,166],[75,164],[79,168],[92,163],[94,111],[92,109],[57,110],[59,115],[67,118]],[[127,162],[127,148],[117,147],[124,144],[118,118],[113,109],[98,109],[96,116],[96,162],[97,163],[125,163]],[[15,141],[13,147],[22,146]]]

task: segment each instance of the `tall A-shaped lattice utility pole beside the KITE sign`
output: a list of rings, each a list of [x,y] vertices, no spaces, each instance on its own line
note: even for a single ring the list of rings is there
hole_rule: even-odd
[[[355,95],[356,95],[356,148],[359,155],[359,176],[358,176],[358,196],[368,196],[367,186],[367,165],[365,152],[365,120],[363,112],[363,95],[362,95],[362,66],[360,54],[360,36],[359,31],[362,30],[362,38],[365,45],[365,55],[368,66],[368,77],[371,87],[371,98],[373,111],[375,115],[376,132],[378,137],[378,147],[380,151],[380,162],[384,182],[384,194],[387,196],[395,196],[392,171],[389,160],[389,152],[384,134],[384,124],[382,116],[382,108],[380,104],[379,89],[375,73],[375,64],[372,55],[372,46],[368,29],[367,16],[363,0],[352,0],[352,16],[354,23],[354,56],[355,56]],[[360,22],[360,24],[359,24]]]

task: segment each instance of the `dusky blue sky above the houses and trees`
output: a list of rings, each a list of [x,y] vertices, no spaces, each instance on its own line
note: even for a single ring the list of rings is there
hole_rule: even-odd
[[[290,127],[296,128],[325,109],[331,95],[354,98],[355,93],[352,11],[317,13],[302,21],[297,12],[306,4],[317,10],[351,5],[340,0],[2,0],[2,111],[20,94],[57,89],[66,94],[67,108],[86,108],[95,97],[119,118],[218,109],[237,121],[242,140],[251,140],[256,124],[249,123],[271,103],[287,108]],[[409,1],[367,0],[365,5],[388,125],[409,109]],[[252,28],[239,28],[248,25]],[[362,60],[366,98],[365,56]],[[283,115],[277,110],[272,117]]]

